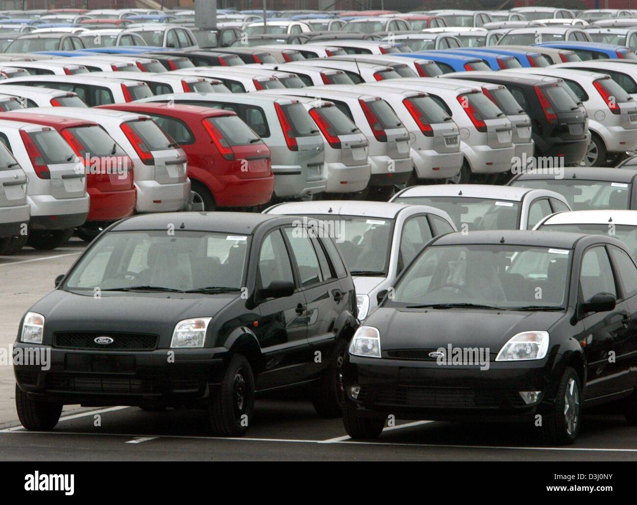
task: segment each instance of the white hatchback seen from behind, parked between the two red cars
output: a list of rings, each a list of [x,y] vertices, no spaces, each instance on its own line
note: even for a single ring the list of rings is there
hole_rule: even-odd
[[[64,109],[64,110],[62,110]],[[41,114],[38,109],[24,113]],[[105,109],[51,107],[45,113],[99,123],[132,160],[138,212],[184,210],[190,203],[186,154],[148,116]]]

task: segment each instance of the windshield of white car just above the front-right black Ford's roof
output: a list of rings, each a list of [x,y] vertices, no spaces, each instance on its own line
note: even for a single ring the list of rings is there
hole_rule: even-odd
[[[520,225],[519,202],[461,196],[399,197],[393,201],[430,205],[443,210],[450,215],[459,230],[517,230]]]

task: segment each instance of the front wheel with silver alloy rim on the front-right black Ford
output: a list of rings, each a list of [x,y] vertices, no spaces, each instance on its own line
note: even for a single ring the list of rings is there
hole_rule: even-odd
[[[570,445],[580,432],[582,385],[572,367],[566,367],[557,382],[555,402],[541,409],[542,434],[550,445]]]

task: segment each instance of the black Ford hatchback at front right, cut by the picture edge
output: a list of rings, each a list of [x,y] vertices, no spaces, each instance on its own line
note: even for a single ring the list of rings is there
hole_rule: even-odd
[[[610,401],[637,423],[637,267],[621,241],[452,233],[396,284],[343,365],[350,436],[376,437],[394,415],[530,420],[568,444],[582,409]]]

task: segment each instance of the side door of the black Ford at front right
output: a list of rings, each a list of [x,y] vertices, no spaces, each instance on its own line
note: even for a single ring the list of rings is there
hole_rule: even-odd
[[[591,246],[583,253],[579,289],[580,304],[598,293],[619,297],[605,246]],[[619,374],[617,364],[617,351],[618,343],[627,338],[629,322],[628,303],[620,299],[615,309],[585,314],[582,318],[584,332],[579,340],[587,362],[586,401],[624,389],[624,377]]]

